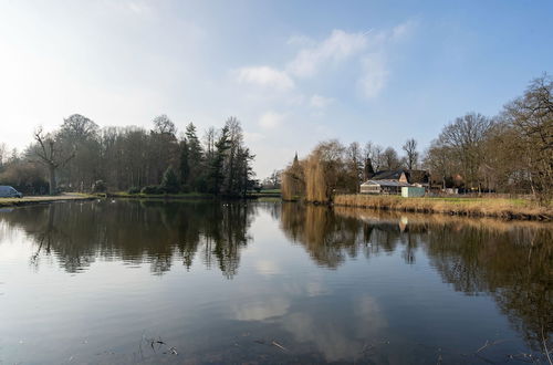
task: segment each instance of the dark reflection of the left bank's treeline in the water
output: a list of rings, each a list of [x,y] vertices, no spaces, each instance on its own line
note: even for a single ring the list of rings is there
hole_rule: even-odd
[[[163,274],[178,257],[187,268],[198,259],[230,279],[237,274],[240,249],[251,240],[252,209],[206,202],[52,204],[13,210],[0,221],[20,227],[35,242],[30,261],[36,268],[54,254],[72,273],[102,258],[149,262],[152,272]]]

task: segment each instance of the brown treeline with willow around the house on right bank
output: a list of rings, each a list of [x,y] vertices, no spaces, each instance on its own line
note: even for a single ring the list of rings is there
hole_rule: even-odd
[[[284,199],[325,202],[336,192],[357,192],[380,170],[424,168],[437,189],[553,195],[553,80],[544,75],[494,117],[468,113],[446,125],[419,161],[409,139],[398,157],[393,147],[367,143],[320,143],[305,158],[294,158],[282,173]]]

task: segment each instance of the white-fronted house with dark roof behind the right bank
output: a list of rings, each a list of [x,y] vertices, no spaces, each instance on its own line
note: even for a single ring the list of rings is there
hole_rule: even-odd
[[[430,174],[425,170],[397,169],[378,171],[361,185],[361,194],[400,195],[404,187],[428,189]]]

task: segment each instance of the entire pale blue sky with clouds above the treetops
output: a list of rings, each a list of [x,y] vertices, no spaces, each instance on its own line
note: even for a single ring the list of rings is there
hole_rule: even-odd
[[[553,1],[0,0],[0,143],[71,114],[238,117],[264,178],[321,140],[424,152],[553,73]]]

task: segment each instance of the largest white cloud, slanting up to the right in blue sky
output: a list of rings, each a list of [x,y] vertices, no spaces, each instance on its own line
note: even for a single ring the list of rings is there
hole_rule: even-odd
[[[365,49],[366,33],[347,33],[334,30],[331,35],[313,48],[301,50],[286,70],[300,77],[313,76],[322,64],[345,60]]]

